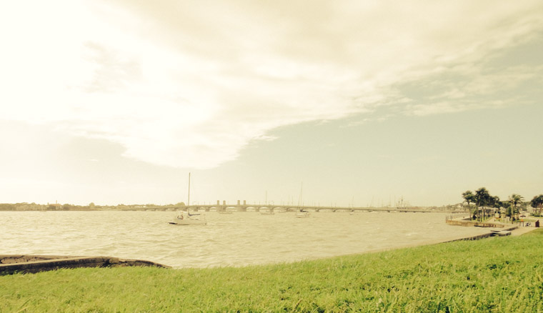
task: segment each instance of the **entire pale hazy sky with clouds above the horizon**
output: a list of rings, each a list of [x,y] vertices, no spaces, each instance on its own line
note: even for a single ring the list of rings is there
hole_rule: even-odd
[[[4,1],[0,203],[543,194],[543,2]]]

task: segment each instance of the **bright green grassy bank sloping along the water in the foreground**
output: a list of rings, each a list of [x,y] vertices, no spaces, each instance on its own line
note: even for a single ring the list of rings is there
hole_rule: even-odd
[[[0,312],[543,312],[543,232],[213,269],[0,277]]]

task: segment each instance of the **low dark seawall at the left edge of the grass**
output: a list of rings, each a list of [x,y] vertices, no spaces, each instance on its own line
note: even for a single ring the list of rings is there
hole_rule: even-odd
[[[14,273],[37,273],[55,269],[74,269],[78,267],[164,267],[167,265],[116,257],[66,257],[46,255],[1,255],[0,275]]]

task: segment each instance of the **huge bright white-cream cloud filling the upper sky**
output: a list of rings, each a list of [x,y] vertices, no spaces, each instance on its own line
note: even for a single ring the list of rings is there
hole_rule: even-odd
[[[541,79],[538,68],[484,64],[537,36],[540,1],[35,5],[0,10],[1,118],[170,167],[216,167],[279,126],[392,104],[474,109],[497,103],[499,86]]]

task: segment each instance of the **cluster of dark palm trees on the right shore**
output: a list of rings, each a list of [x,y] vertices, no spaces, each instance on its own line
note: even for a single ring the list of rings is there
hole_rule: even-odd
[[[500,214],[500,217],[509,217],[510,219],[518,219],[519,209],[526,208],[529,204],[534,208],[534,215],[540,216],[543,208],[543,194],[535,196],[530,202],[523,202],[524,197],[519,194],[511,194],[506,201],[501,201],[499,197],[492,196],[484,187],[472,192],[468,190],[462,193],[464,202],[470,210],[472,219],[477,219],[480,222],[488,219],[495,209]],[[475,204],[472,210],[471,204]]]

